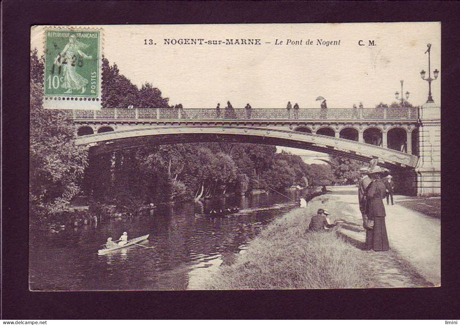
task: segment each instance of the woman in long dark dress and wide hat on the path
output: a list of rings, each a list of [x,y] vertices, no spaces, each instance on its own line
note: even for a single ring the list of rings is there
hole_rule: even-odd
[[[381,175],[385,170],[379,166],[372,168],[368,176],[372,182],[366,189],[366,214],[369,220],[374,220],[374,228],[366,231],[365,249],[374,251],[388,251],[388,235],[385,225],[385,205],[383,199],[386,197],[385,184],[381,180]]]

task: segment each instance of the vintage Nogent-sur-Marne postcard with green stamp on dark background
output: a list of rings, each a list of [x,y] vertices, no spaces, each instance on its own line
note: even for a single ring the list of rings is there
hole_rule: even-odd
[[[33,26],[31,291],[441,285],[441,23]]]

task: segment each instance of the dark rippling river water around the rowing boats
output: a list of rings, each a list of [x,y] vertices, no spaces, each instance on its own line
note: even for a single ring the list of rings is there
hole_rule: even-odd
[[[291,192],[298,197],[299,192]],[[239,206],[236,216],[195,217],[211,206]],[[30,230],[29,287],[38,291],[202,289],[222,263],[231,263],[269,222],[293,209],[279,194],[161,207],[132,220],[91,226]],[[127,231],[147,241],[98,256],[108,237]]]

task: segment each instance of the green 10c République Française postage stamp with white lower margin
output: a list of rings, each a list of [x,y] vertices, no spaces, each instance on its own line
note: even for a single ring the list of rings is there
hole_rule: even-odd
[[[45,28],[45,108],[100,109],[102,30]]]

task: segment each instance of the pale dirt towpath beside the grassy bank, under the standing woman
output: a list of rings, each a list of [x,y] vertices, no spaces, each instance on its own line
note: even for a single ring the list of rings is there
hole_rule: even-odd
[[[321,197],[324,204],[345,223],[339,234],[357,249],[362,249],[366,232],[357,202],[356,187],[331,187]],[[391,249],[388,252],[362,251],[368,258],[370,283],[375,287],[438,286],[441,284],[441,221],[415,212],[398,201],[386,205],[386,227]]]

